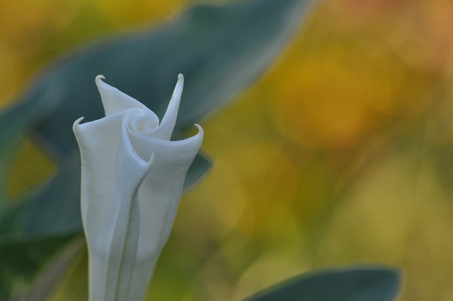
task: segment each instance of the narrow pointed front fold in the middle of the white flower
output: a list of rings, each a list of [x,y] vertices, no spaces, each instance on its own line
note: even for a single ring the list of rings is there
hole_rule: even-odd
[[[117,220],[108,260],[105,300],[133,300],[128,299],[127,295],[131,288],[136,290],[135,284],[132,283],[132,273],[137,256],[141,220],[138,191],[151,168],[152,161],[152,156],[147,162],[134,151],[123,120],[116,161]],[[98,299],[95,297],[93,300]]]

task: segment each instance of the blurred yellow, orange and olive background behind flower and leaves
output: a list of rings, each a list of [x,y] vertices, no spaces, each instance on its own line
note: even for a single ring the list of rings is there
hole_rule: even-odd
[[[55,57],[193,4],[0,1],[0,108]],[[362,263],[401,267],[399,300],[453,300],[452,84],[453,1],[320,2],[258,82],[202,122],[214,167],[181,200],[149,300],[241,300]],[[55,169],[29,141],[16,160],[11,195]],[[86,272],[83,253],[50,300],[84,300]]]

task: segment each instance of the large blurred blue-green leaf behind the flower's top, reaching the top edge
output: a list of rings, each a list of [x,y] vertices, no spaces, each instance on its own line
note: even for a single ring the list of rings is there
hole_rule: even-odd
[[[39,76],[35,89],[58,87],[61,105],[35,128],[57,152],[76,148],[71,124],[103,117],[93,79],[105,81],[163,115],[179,73],[185,89],[176,128],[200,123],[255,81],[299,28],[307,0],[200,5],[157,30],[78,52]],[[25,101],[34,101],[32,97]]]

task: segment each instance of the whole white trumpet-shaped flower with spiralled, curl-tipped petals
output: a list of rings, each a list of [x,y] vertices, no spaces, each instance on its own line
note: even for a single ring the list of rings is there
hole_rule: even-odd
[[[203,131],[170,141],[183,76],[159,118],[134,98],[96,84],[105,118],[79,124],[81,215],[88,244],[89,300],[142,301],[173,227],[185,174]]]

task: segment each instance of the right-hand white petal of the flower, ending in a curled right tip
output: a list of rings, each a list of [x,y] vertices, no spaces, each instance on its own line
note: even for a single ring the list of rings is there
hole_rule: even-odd
[[[183,190],[185,174],[200,149],[203,131],[180,141],[139,139],[130,132],[135,149],[151,148],[154,163],[139,188],[140,231],[129,300],[143,300],[154,266],[170,235]]]

